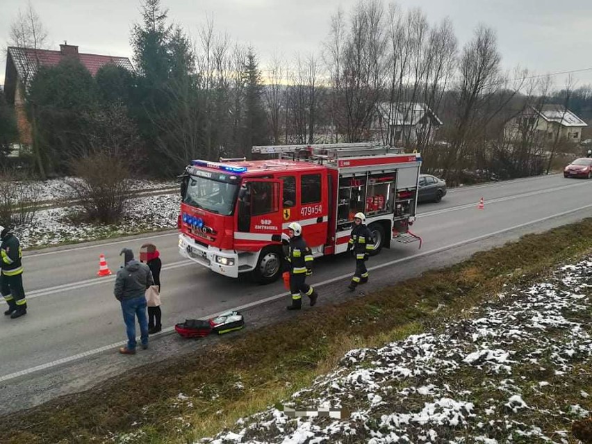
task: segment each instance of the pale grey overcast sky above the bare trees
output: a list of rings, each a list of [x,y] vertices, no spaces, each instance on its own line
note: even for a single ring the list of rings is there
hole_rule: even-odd
[[[274,52],[291,58],[319,51],[329,19],[339,6],[349,12],[359,0],[163,0],[169,17],[197,35],[208,15],[215,30],[250,44],[261,63]],[[49,31],[49,49],[67,40],[79,51],[131,57],[131,24],[140,20],[140,0],[31,0]],[[388,3],[388,0],[384,0]],[[430,22],[450,17],[461,46],[477,24],[495,28],[505,68],[520,65],[536,74],[592,67],[591,0],[400,0],[419,6]],[[10,23],[26,0],[0,0],[0,45],[6,48]],[[5,51],[3,51],[5,53]],[[0,58],[3,84],[6,54]],[[577,85],[592,83],[592,69],[574,74]],[[555,76],[561,88],[565,76]]]

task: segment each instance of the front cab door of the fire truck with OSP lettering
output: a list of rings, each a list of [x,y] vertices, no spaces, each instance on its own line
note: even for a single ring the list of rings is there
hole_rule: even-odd
[[[281,234],[283,183],[277,179],[247,179],[238,194],[238,230]]]

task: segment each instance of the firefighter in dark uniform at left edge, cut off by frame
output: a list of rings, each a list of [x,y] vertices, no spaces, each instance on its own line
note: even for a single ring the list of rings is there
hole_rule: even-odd
[[[0,240],[0,291],[8,303],[4,314],[16,319],[26,315],[21,242],[10,232],[10,227],[0,227]]]

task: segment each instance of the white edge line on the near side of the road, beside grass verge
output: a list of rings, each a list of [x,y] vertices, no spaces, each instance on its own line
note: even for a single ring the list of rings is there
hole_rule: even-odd
[[[546,217],[541,217],[540,219],[537,219],[537,220],[532,220],[530,222],[525,222],[523,224],[514,225],[513,227],[504,228],[504,229],[501,229],[501,230],[498,230],[498,231],[493,231],[491,233],[483,234],[482,236],[477,236],[475,238],[470,238],[470,239],[467,239],[467,240],[461,240],[460,242],[454,242],[453,244],[446,245],[445,247],[439,247],[439,248],[431,249],[431,250],[429,250],[427,252],[413,254],[413,256],[407,256],[405,258],[395,259],[394,261],[389,261],[389,262],[386,262],[386,263],[381,263],[380,265],[375,265],[374,267],[368,268],[368,270],[370,270],[370,271],[372,271],[372,270],[379,270],[380,268],[388,267],[390,265],[395,265],[397,263],[402,263],[402,262],[406,262],[406,261],[413,261],[413,259],[421,258],[421,257],[427,256],[429,254],[435,254],[435,253],[443,252],[443,251],[445,251],[447,249],[451,249],[451,248],[455,248],[455,247],[460,247],[461,245],[466,245],[466,244],[470,244],[472,242],[477,242],[479,240],[483,240],[483,239],[486,239],[486,238],[491,238],[492,236],[497,236],[498,234],[506,233],[507,231],[512,231],[512,230],[520,229],[520,228],[523,228],[523,227],[527,227],[527,226],[532,225],[532,224],[538,224],[539,222],[544,222],[545,220],[553,219],[554,217],[561,217],[561,216],[568,215],[568,214],[571,214],[571,213],[577,213],[578,211],[584,211],[584,210],[586,210],[588,208],[592,208],[592,204],[582,206],[582,207],[577,208],[575,210],[563,211],[561,213],[557,213],[557,214],[554,214],[554,215],[550,215],[550,216],[546,216]],[[314,285],[315,286],[324,286],[324,285],[327,285],[329,283],[334,283],[336,281],[347,279],[351,275],[352,275],[351,273],[342,274],[341,276],[338,276],[338,277],[334,277],[334,278],[331,278],[331,279],[327,279],[325,281],[314,283]],[[199,318],[199,319],[206,320],[206,319],[215,318],[216,316],[219,316],[222,313],[226,313],[227,311],[241,311],[241,310],[245,310],[245,309],[251,309],[254,306],[263,305],[263,304],[266,304],[268,302],[272,302],[272,301],[275,301],[277,299],[281,299],[282,297],[286,297],[286,292],[282,292],[279,295],[265,297],[263,299],[259,299],[258,301],[249,302],[248,304],[243,304],[243,305],[237,306],[237,307],[235,307],[233,309],[227,309],[227,310],[224,310],[224,311],[219,311],[217,313],[213,313],[211,315],[207,315],[207,316],[204,316],[203,318]],[[166,336],[167,334],[172,333],[172,331],[174,331],[174,327],[167,327],[167,328],[163,329],[163,331],[161,331],[161,333],[158,333],[158,334],[156,334],[154,336],[151,336],[151,337],[154,338],[154,337],[158,337],[158,336]],[[85,357],[88,357],[88,356],[93,356],[93,355],[99,354],[101,352],[106,352],[107,350],[113,349],[115,347],[121,347],[122,345],[125,345],[126,343],[127,343],[127,341],[122,341],[122,342],[119,342],[119,343],[105,345],[104,347],[99,347],[99,348],[96,348],[94,350],[88,350],[87,352],[82,352],[82,353],[79,353],[79,354],[75,354],[74,356],[68,356],[67,358],[58,359],[57,361],[51,361],[49,363],[45,363],[45,364],[42,364],[42,365],[37,365],[35,367],[26,368],[26,369],[20,370],[18,372],[10,373],[9,375],[1,376],[0,377],[0,382],[9,381],[10,379],[15,379],[17,377],[29,375],[29,374],[31,374],[33,372],[37,372],[39,370],[47,370],[48,368],[53,368],[53,367],[56,367],[57,365],[60,365],[60,364],[69,363],[69,362],[72,362],[72,361],[77,361],[77,360],[79,360],[81,358],[85,358]]]

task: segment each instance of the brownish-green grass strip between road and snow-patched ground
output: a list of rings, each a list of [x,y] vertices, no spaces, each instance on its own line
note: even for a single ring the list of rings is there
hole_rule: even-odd
[[[9,443],[188,443],[281,401],[347,350],[418,333],[592,252],[592,219],[524,236],[340,306],[227,338],[79,395],[0,418]],[[101,402],[97,402],[101,400]]]

